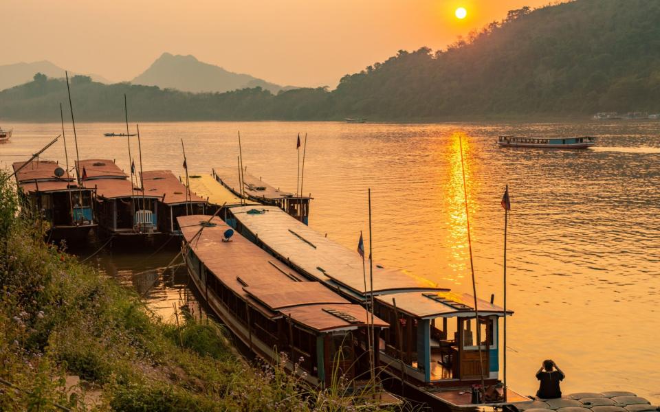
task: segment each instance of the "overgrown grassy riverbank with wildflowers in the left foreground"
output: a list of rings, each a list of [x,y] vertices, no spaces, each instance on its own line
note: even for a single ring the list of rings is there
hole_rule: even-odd
[[[248,365],[212,322],[162,323],[131,290],[45,244],[40,226],[17,217],[14,188],[1,185],[1,411],[373,409],[341,387]]]

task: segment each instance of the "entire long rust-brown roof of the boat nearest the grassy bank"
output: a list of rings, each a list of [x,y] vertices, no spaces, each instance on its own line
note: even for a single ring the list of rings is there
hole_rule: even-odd
[[[364,312],[361,306],[350,304],[322,284],[309,282],[239,233],[230,242],[223,241],[225,231],[231,227],[220,218],[191,215],[179,216],[177,221],[186,242],[206,268],[271,319],[291,314],[292,320],[318,331],[357,328],[363,324],[351,323],[350,317],[342,317],[340,313]],[[341,308],[339,316],[325,313],[336,319],[326,319],[319,313],[322,308],[332,311],[335,306]],[[384,324],[381,319],[374,319],[378,325]]]

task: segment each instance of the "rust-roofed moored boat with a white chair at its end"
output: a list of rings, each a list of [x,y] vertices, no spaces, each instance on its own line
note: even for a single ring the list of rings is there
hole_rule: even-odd
[[[98,225],[104,235],[124,238],[153,238],[157,231],[158,201],[161,196],[135,187],[112,160],[76,161],[82,181],[94,187]]]

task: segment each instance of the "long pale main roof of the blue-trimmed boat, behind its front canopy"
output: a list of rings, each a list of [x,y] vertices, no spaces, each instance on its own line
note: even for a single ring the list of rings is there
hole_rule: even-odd
[[[365,280],[362,256],[314,231],[276,206],[232,207],[230,209],[241,225],[259,236],[259,240],[296,268],[311,277],[342,286],[358,295],[371,292],[369,276]],[[369,262],[366,262],[369,266]],[[437,284],[410,273],[379,265],[373,266],[373,292],[375,295],[401,290],[443,290]]]

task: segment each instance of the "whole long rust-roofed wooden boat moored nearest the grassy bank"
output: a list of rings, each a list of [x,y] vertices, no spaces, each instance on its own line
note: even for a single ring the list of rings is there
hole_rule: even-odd
[[[329,387],[333,376],[344,376],[358,389],[369,380],[364,308],[309,282],[239,234],[227,240],[230,226],[220,218],[177,220],[190,278],[245,348],[271,365],[285,362],[290,374],[311,385]],[[373,325],[376,331],[388,326],[377,317]],[[384,391],[378,398],[397,401]]]

